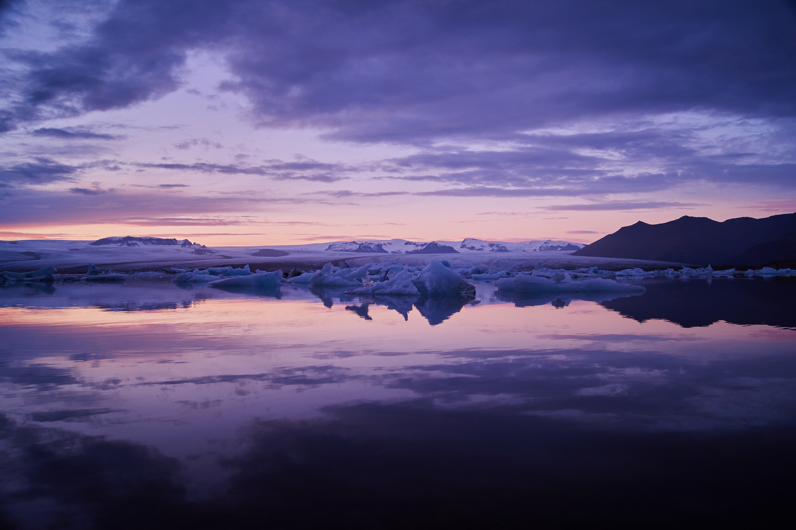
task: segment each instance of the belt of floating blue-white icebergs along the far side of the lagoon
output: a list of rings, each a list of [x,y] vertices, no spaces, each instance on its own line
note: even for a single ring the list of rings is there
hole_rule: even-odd
[[[350,261],[350,260],[349,260]],[[314,289],[345,291],[360,296],[419,296],[423,298],[457,298],[470,296],[473,283],[494,283],[498,290],[511,292],[584,293],[584,292],[643,292],[644,287],[635,285],[643,279],[731,279],[731,278],[775,278],[796,276],[796,270],[763,267],[756,270],[739,271],[726,269],[716,271],[712,267],[678,267],[645,270],[640,267],[622,271],[607,271],[599,267],[578,269],[550,269],[538,262],[533,271],[492,269],[486,266],[452,268],[446,260],[432,260],[426,266],[408,266],[404,263],[365,263],[349,267],[341,260],[340,266],[326,263],[316,271],[298,268],[289,273],[283,271],[255,271],[244,267],[207,267],[193,270],[170,268],[158,272],[122,273],[110,268],[100,270],[89,264],[82,275],[58,275],[55,267],[44,267],[28,272],[0,272],[0,283],[42,282],[58,280],[84,281],[88,283],[113,283],[126,279],[170,279],[174,283],[188,285],[276,287],[283,284],[306,285]],[[628,283],[630,282],[630,283]]]

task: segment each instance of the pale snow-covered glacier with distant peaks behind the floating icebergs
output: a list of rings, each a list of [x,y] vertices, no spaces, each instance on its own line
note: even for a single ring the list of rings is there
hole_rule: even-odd
[[[620,270],[632,267],[674,267],[686,263],[645,262],[633,259],[572,256],[583,244],[556,240],[521,243],[466,239],[462,241],[408,240],[339,241],[284,246],[206,247],[190,240],[155,237],[107,237],[96,241],[0,241],[0,271],[28,272],[56,267],[61,273],[84,274],[89,263],[116,271],[158,271],[170,267],[201,268],[251,265],[264,271],[320,269],[325,263],[350,266],[366,263],[402,263],[425,267],[447,259],[455,267],[525,271],[537,261],[549,267],[579,268],[598,265]]]

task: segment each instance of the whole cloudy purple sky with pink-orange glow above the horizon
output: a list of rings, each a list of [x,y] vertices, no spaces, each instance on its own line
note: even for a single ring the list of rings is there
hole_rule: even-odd
[[[796,2],[0,0],[0,239],[796,212]]]

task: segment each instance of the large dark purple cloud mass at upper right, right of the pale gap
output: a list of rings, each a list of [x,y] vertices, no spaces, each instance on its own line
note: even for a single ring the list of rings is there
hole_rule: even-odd
[[[265,27],[237,22],[228,60],[239,80],[228,88],[263,119],[339,126],[332,138],[503,136],[617,112],[796,111],[794,17],[782,2],[293,6],[269,10]]]

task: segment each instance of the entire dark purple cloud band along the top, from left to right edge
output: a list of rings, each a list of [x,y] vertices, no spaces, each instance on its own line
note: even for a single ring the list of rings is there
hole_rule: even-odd
[[[191,49],[223,53],[226,88],[263,121],[365,142],[622,112],[796,113],[788,2],[123,0],[80,44],[6,50],[27,67],[7,127],[164,95]]]

